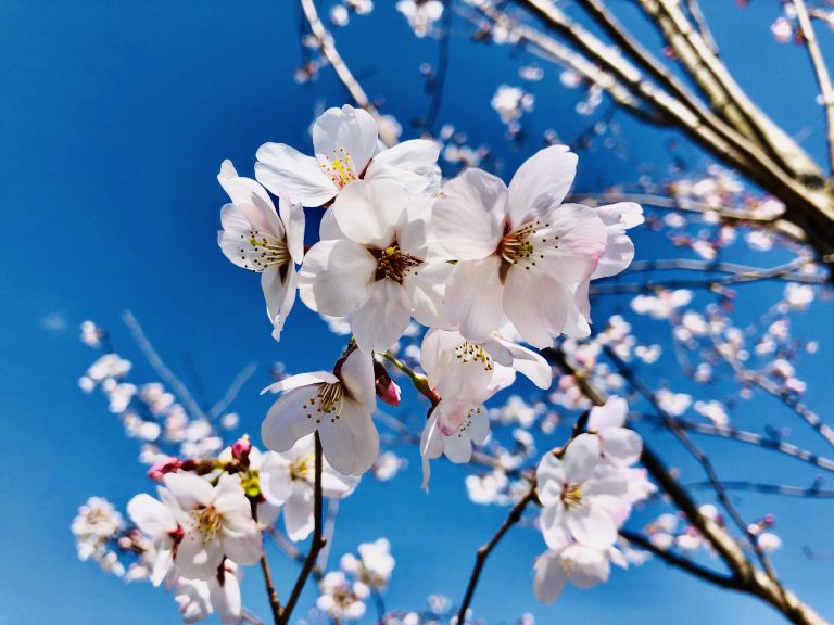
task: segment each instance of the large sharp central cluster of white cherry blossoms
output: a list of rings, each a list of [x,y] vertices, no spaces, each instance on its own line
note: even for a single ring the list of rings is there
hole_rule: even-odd
[[[489,434],[484,400],[517,371],[549,386],[549,367],[519,343],[543,348],[561,334],[586,336],[589,283],[629,265],[626,231],[642,221],[636,204],[564,203],[577,168],[564,145],[535,154],[509,186],[470,168],[441,188],[437,143],[379,143],[374,117],[345,105],[314,124],[315,156],[267,143],[257,181],[228,162],[219,176],[231,199],[220,247],[262,273],[274,336],[296,289],[311,309],[346,318],[353,334],[332,372],[268,387],[283,395],[264,421],[264,443],[283,452],[318,432],[330,464],[352,475],[379,451],[375,354],[394,346],[412,320],[430,329],[420,356],[434,394],[424,459],[467,461],[471,443]],[[304,207],[315,206],[326,212],[305,252]]]

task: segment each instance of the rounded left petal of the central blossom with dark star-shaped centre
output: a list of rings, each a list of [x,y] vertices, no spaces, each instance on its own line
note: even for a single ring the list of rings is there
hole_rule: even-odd
[[[319,241],[299,272],[299,295],[316,312],[344,317],[370,297],[377,260],[352,241]]]

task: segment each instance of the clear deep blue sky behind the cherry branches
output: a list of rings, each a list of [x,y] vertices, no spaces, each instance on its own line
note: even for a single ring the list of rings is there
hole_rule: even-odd
[[[415,41],[388,2],[377,4],[372,15],[354,18],[340,33],[341,48],[368,91],[405,123],[428,105],[418,66],[435,58],[435,43]],[[775,5],[709,9],[716,37],[744,87],[788,132],[810,131],[804,144],[821,157],[819,107],[804,53],[776,47],[768,33]],[[258,373],[236,405],[244,426],[256,432],[267,407],[256,392],[268,366],[282,360],[293,371],[327,368],[340,340],[328,337],[324,324],[298,306],[282,342],[271,341],[256,278],[229,264],[216,246],[225,199],[215,176],[227,157],[251,173],[255,150],[266,141],[308,146],[306,129],[317,107],[340,105],[345,95],[327,69],[312,87],[293,82],[301,53],[291,2],[0,0],[0,217],[7,232],[0,246],[0,622],[177,623],[169,597],[147,585],[126,586],[76,559],[70,522],[79,503],[101,495],[123,507],[151,487],[117,419],[100,397],[77,387],[93,358],[78,342],[77,328],[92,318],[112,329],[117,347],[135,361],[135,380],[153,381],[119,321],[129,308],[170,365],[182,371],[184,355],[190,355],[214,398],[243,365],[257,361]],[[489,100],[500,82],[520,84],[517,64],[507,49],[471,46],[460,20],[454,33],[441,119],[466,131],[472,143],[492,146],[511,170],[536,144],[509,148]],[[530,87],[538,99],[531,136],[551,127],[570,139],[581,130],[572,114],[577,94],[561,89],[557,77],[545,66],[545,79]],[[662,175],[664,140],[634,123],[624,126],[632,148],[654,154],[661,164],[656,174]],[[405,135],[412,135],[407,128]],[[702,162],[695,151],[685,153],[693,164]],[[578,187],[634,176],[633,164],[597,154],[581,163]],[[637,238],[639,257],[657,255],[650,237]],[[755,297],[766,307],[773,292],[754,293],[755,308]],[[797,321],[797,333],[805,329],[820,341],[820,354],[801,373],[810,382],[809,404],[821,410],[830,405],[823,363],[832,330],[822,323],[827,308],[818,304]],[[764,413],[778,410],[772,403],[754,408],[759,406]],[[723,465],[732,467],[732,448],[716,449]],[[387,535],[399,560],[389,605],[419,608],[430,592],[459,599],[475,549],[506,511],[468,503],[464,473],[446,463],[438,463],[431,495],[421,494],[419,463],[409,458],[412,469],[401,477],[387,484],[368,480],[343,503],[333,551],[339,556]],[[812,479],[791,464],[771,467],[764,454],[750,458],[751,469],[773,480]],[[832,564],[808,562],[800,552],[806,544],[834,549],[830,503],[743,500],[750,514],[776,513],[785,539],[776,564],[804,598],[834,615],[825,582]],[[571,590],[543,608],[530,579],[532,558],[542,550],[533,532],[508,536],[488,566],[476,611],[491,623],[511,623],[525,611],[540,623],[666,623],[672,615],[680,625],[780,622],[748,598],[719,592],[659,563],[618,572],[598,589]],[[295,566],[277,559],[274,569],[278,587],[287,589]],[[260,583],[252,570],[245,596],[266,614]]]

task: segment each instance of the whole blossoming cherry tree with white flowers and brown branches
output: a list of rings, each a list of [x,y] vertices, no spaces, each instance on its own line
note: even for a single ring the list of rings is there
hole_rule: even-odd
[[[81,339],[100,356],[80,386],[101,392],[140,442],[150,481],[125,513],[102,497],[79,508],[79,558],[164,588],[187,623],[212,614],[290,623],[314,583],[317,600],[304,608],[320,622],[370,618],[374,605],[381,624],[463,625],[490,621],[477,601],[489,557],[508,532],[530,532],[541,554],[518,570],[543,603],[567,585],[608,582],[611,565],[654,560],[763,601],[789,622],[824,623],[772,562],[776,530],[791,527],[776,528],[767,510],[743,510],[732,492],[834,494],[818,481],[749,480],[744,462],[721,465],[707,445],[724,439],[738,455],[756,447],[774,462],[834,471],[834,431],[805,404],[797,373],[819,345],[791,324],[826,292],[834,247],[834,91],[816,34],[834,24],[834,11],[791,0],[772,26],[774,44],[795,39],[808,51],[826,119],[822,166],[741,89],[697,2],[634,4],[662,37],[662,60],[602,0],[578,1],[576,16],[548,0],[400,0],[415,36],[435,38],[441,52],[425,71],[430,107],[418,137],[401,142],[396,112],[383,114],[366,94],[334,30],[313,0],[300,0],[307,58],[296,79],[331,67],[351,102],[315,119],[313,155],[267,142],[247,167],[254,177],[219,164],[229,202],[218,244],[261,273],[265,341],[293,332],[301,304],[344,336],[343,352],[316,371],[274,370],[261,431],[241,434],[230,407],[251,368],[206,408],[129,312],[124,321],[160,382],[130,381],[131,362],[109,332],[86,322]],[[451,125],[438,129],[452,15],[476,43],[563,67],[563,82],[586,92],[578,127],[607,102],[677,129],[715,163],[584,192],[574,184],[583,151],[616,139],[611,119],[591,123],[577,145],[545,136],[530,148],[522,120],[532,95],[496,85],[491,106],[528,155],[496,175],[484,150]],[[333,29],[359,16],[374,18],[370,0],[328,7]],[[523,65],[519,75],[536,80],[541,69]],[[305,228],[311,214],[317,233]],[[649,237],[660,242],[653,252],[673,257],[641,255]],[[757,255],[780,260],[749,264]],[[744,297],[761,284],[771,285],[770,301]],[[606,301],[627,308],[606,317],[597,312]],[[659,380],[648,366],[661,358],[677,371]],[[736,424],[759,396],[772,401],[769,422]],[[425,418],[413,428],[380,404],[409,404]],[[793,421],[812,445],[791,437]],[[674,451],[660,452],[669,437]],[[363,480],[394,479],[404,446],[419,450],[429,497],[431,467],[450,461],[472,502],[508,508],[473,554],[466,588],[427,588],[444,595],[427,609],[386,607],[386,589],[408,563],[384,537],[329,561],[339,501]],[[635,509],[652,521],[635,522]],[[300,566],[291,588],[274,584],[279,552]],[[245,608],[239,581],[250,567],[261,569],[269,617]]]

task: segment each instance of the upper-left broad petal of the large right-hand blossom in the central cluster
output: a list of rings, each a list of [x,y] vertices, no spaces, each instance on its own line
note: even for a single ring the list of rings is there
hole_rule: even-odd
[[[453,258],[477,260],[498,246],[507,216],[507,188],[501,178],[467,169],[443,187],[432,208],[432,228]]]

